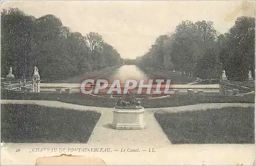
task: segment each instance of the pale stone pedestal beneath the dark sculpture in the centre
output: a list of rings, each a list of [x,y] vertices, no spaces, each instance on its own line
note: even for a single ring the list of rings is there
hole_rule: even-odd
[[[113,110],[111,128],[116,130],[141,130],[146,128],[143,120],[144,108],[140,109],[117,109]]]

